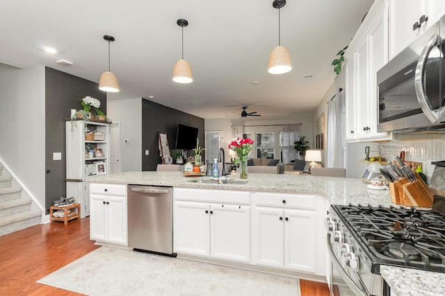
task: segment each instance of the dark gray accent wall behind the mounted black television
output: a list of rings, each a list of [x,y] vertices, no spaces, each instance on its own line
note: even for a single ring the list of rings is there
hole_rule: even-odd
[[[159,132],[167,134],[170,150],[175,149],[179,123],[198,128],[200,146],[204,148],[204,119],[152,101],[142,100],[142,171],[156,171],[156,166],[162,163],[158,148]],[[149,155],[145,155],[145,150],[150,151]],[[188,156],[191,155],[193,151],[189,150]]]

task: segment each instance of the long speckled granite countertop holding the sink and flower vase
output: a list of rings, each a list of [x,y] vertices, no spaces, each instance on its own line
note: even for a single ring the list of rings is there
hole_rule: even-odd
[[[140,184],[202,189],[231,189],[241,191],[268,191],[275,193],[318,194],[325,196],[331,204],[391,204],[389,191],[373,190],[357,178],[316,177],[311,175],[273,175],[252,173],[247,184],[207,184],[189,182],[209,179],[209,176],[186,177],[181,172],[126,172],[88,177],[85,181],[114,184]],[[240,180],[238,176],[234,178]]]

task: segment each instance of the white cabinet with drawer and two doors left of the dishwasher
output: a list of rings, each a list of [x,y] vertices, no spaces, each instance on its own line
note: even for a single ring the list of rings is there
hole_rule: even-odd
[[[90,238],[127,245],[127,186],[90,184]]]

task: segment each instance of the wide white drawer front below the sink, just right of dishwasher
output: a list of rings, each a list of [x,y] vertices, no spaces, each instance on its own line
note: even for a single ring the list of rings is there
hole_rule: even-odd
[[[248,191],[175,188],[173,197],[175,200],[250,204],[250,193]]]

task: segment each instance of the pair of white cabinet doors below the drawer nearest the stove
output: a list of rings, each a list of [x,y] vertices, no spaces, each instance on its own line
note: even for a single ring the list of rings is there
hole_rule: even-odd
[[[316,272],[315,211],[257,207],[254,263]]]

